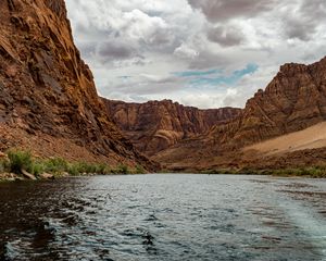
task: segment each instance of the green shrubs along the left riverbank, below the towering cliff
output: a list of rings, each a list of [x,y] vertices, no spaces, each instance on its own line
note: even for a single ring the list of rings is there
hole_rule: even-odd
[[[0,179],[38,179],[91,174],[142,174],[145,170],[140,165],[134,169],[125,164],[112,167],[103,163],[68,162],[62,158],[38,159],[29,151],[10,150],[0,158]]]

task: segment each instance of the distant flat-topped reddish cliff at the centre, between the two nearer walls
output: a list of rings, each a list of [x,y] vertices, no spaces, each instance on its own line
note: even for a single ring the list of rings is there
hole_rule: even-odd
[[[148,156],[204,134],[239,114],[239,109],[199,110],[171,100],[126,103],[103,99],[109,115],[137,149]]]

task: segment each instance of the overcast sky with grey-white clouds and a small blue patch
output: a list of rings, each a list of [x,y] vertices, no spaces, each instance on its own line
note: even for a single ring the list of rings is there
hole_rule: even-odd
[[[325,0],[66,0],[110,99],[243,107],[286,62],[326,55]]]

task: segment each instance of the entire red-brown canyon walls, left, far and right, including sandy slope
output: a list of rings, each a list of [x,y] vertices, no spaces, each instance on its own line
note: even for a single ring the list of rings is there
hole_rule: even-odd
[[[74,45],[64,0],[7,0],[0,11],[2,152],[22,148],[40,158],[195,172],[326,159],[324,136],[310,138],[324,132],[326,58],[280,66],[244,109],[127,103],[98,96]]]

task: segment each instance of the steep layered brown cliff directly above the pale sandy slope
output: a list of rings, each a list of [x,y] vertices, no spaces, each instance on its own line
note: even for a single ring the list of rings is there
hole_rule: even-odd
[[[242,147],[301,130],[326,120],[326,58],[312,65],[285,64],[248,100],[238,117],[215,126],[215,142]]]

